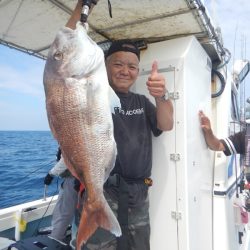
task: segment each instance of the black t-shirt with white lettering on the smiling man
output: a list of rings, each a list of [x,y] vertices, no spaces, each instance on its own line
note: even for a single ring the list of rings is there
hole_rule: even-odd
[[[151,175],[152,136],[159,136],[156,108],[144,95],[116,93],[121,109],[113,115],[114,137],[117,143],[116,164],[112,171],[128,179],[143,179]]]

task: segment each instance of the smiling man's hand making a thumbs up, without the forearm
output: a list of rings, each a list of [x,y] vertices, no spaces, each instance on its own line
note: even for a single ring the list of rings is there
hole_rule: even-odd
[[[156,61],[152,64],[151,74],[148,77],[147,87],[149,94],[153,97],[162,97],[166,93],[165,78],[158,73],[158,63]]]

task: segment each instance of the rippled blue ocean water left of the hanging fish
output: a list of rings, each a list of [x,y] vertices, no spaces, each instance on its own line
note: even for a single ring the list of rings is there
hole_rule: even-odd
[[[0,131],[0,209],[43,198],[57,148],[50,131]],[[60,182],[55,177],[47,195],[57,194]]]

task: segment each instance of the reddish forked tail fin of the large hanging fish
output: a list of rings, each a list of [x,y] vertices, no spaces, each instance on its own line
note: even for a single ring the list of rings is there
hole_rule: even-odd
[[[77,250],[86,244],[87,240],[96,231],[98,227],[102,227],[116,237],[121,236],[121,228],[117,218],[108,205],[104,196],[97,202],[89,203],[88,200],[84,204],[83,213],[78,227]]]

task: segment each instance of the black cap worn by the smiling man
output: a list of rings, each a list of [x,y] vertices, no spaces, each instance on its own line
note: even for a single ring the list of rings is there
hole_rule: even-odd
[[[136,56],[138,57],[140,61],[140,50],[137,47],[137,45],[131,40],[126,39],[126,40],[114,41],[109,47],[105,58],[107,58],[108,56],[118,51],[132,52],[136,54]]]

